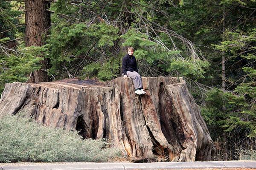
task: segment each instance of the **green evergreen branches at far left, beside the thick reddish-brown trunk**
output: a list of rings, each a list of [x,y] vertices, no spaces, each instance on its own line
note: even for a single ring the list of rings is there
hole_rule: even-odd
[[[41,58],[36,55],[42,56],[47,51],[44,47],[23,47],[24,24],[18,20],[23,12],[17,10],[16,5],[0,3],[0,93],[5,83],[26,82],[29,73],[41,66]]]

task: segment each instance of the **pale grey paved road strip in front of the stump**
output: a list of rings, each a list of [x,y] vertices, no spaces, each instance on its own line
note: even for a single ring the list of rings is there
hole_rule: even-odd
[[[256,161],[154,162],[154,163],[16,163],[0,164],[0,170],[173,170],[184,168],[256,168]]]

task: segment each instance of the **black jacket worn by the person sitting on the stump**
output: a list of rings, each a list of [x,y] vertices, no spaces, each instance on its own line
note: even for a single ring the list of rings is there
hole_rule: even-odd
[[[130,56],[129,54],[126,54],[125,57],[122,59],[122,73],[125,75],[126,71],[136,71],[138,72],[137,68],[137,62],[135,57],[132,55]]]

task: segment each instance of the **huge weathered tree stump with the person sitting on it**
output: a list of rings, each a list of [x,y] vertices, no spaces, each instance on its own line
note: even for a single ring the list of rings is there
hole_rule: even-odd
[[[207,161],[212,140],[186,83],[177,77],[143,77],[146,94],[130,78],[108,83],[67,79],[6,84],[0,116],[23,112],[45,126],[107,138],[129,157]]]

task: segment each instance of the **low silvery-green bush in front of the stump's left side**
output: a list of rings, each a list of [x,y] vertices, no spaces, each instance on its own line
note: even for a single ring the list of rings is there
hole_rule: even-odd
[[[0,119],[0,162],[108,161],[120,156],[105,140],[82,139],[77,132],[44,127],[29,118]]]

